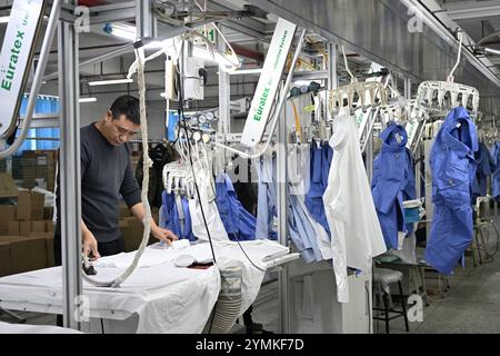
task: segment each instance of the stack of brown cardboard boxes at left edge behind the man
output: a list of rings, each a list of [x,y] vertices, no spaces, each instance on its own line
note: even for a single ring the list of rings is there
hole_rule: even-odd
[[[19,191],[17,205],[0,206],[0,276],[53,266],[53,224],[44,196]]]

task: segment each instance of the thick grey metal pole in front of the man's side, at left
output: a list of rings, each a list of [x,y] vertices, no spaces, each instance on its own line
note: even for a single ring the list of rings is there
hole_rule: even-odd
[[[70,3],[66,0],[66,3]],[[63,322],[81,329],[81,195],[80,195],[80,106],[78,33],[74,24],[59,23],[59,96],[61,98],[61,251]]]

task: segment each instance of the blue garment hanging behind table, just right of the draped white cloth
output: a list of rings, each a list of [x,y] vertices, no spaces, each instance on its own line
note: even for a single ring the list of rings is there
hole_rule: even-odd
[[[216,178],[216,205],[231,240],[254,240],[257,218],[238,200],[234,187],[227,174]]]

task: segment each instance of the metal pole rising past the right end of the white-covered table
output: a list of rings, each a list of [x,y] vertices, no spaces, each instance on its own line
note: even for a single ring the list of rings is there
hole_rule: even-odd
[[[287,234],[287,105],[279,115],[277,139],[277,210],[278,210],[278,238],[281,245],[288,246]],[[271,138],[270,138],[271,139]],[[288,300],[288,267],[284,266],[279,274],[279,306],[280,306],[280,333],[290,333],[289,300]]]

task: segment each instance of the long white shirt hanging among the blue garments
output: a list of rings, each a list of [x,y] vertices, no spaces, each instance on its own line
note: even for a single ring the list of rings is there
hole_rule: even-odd
[[[387,250],[354,120],[352,116],[338,116],[333,120],[330,146],[334,155],[323,195],[340,303],[349,303],[347,267],[366,273],[371,269],[371,259]]]

